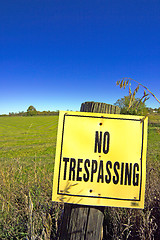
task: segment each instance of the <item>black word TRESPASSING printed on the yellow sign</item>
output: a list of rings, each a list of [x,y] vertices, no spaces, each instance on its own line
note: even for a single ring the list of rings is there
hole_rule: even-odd
[[[139,185],[138,163],[104,162],[103,160],[63,157],[63,180]]]

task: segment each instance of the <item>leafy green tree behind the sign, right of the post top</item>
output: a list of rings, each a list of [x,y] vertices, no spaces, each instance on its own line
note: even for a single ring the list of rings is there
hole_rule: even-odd
[[[132,115],[146,115],[147,108],[145,103],[141,102],[137,106],[137,102],[139,102],[139,98],[135,98],[133,101],[132,107],[129,108],[130,104],[130,96],[124,96],[121,99],[118,99],[114,105],[121,108],[122,114],[132,114]],[[135,103],[135,104],[134,104]]]

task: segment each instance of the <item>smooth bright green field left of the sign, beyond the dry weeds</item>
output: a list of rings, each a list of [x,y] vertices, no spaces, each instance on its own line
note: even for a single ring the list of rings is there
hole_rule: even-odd
[[[54,156],[58,116],[1,117],[0,158]]]

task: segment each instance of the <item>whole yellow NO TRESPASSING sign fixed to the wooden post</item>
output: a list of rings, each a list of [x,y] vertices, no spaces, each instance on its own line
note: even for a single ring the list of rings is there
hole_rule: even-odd
[[[60,111],[52,200],[144,208],[148,119]]]

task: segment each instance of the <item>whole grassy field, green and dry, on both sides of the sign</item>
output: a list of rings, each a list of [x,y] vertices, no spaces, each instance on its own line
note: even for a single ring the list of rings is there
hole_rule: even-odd
[[[110,208],[109,239],[160,237],[159,123],[150,117],[145,209]],[[58,116],[0,117],[0,239],[56,239],[63,208],[51,201],[57,125]]]

